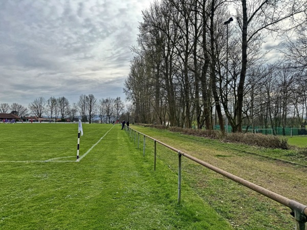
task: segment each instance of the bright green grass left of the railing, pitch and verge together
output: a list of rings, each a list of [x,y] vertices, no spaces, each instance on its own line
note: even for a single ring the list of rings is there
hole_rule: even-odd
[[[112,127],[84,124],[80,155]],[[73,162],[77,129],[0,126],[0,229],[232,228],[188,183],[179,205],[176,170],[159,157],[153,171],[152,151],[143,157],[120,126]]]

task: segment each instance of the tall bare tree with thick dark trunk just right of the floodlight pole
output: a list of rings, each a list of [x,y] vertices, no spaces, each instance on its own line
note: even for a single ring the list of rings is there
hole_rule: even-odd
[[[245,79],[248,63],[248,49],[251,49],[254,42],[259,42],[264,38],[261,32],[284,31],[286,24],[283,21],[288,20],[288,25],[296,24],[295,15],[303,13],[306,9],[306,1],[255,1],[241,0],[242,8],[237,8],[237,22],[242,32],[242,68],[237,87],[237,131],[242,132],[243,121],[243,102],[245,94]]]

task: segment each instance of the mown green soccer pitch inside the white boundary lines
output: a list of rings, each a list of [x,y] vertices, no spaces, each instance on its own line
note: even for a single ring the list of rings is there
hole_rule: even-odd
[[[83,124],[80,159],[113,126]],[[0,162],[75,162],[78,124],[23,123],[0,127]]]

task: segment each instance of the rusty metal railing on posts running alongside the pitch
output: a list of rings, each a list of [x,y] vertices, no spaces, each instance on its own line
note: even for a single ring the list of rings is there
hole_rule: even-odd
[[[304,205],[304,204],[301,204],[295,200],[291,200],[291,199],[288,199],[287,197],[283,197],[277,193],[274,193],[270,190],[267,190],[265,188],[262,188],[260,186],[257,186],[255,185],[254,183],[252,182],[249,182],[245,179],[242,179],[238,176],[235,176],[231,173],[228,173],[222,169],[219,169],[215,166],[212,166],[206,162],[203,162],[203,160],[200,160],[198,158],[195,158],[187,153],[184,153],[176,148],[173,148],[159,140],[156,140],[154,138],[152,138],[151,136],[148,136],[144,133],[141,133],[133,128],[130,128],[128,126],[125,126],[125,129],[126,131],[128,132],[129,134],[129,137],[131,137],[131,139],[133,139],[133,131],[135,132],[134,134],[134,142],[136,143],[136,133],[138,133],[138,149],[140,147],[140,135],[143,135],[144,136],[144,141],[143,141],[143,156],[145,156],[145,137],[147,137],[148,139],[151,139],[153,140],[154,142],[154,148],[155,148],[155,164],[154,164],[154,169],[156,171],[156,159],[157,159],[157,143],[175,151],[178,153],[178,203],[180,203],[181,201],[181,170],[182,170],[182,166],[181,166],[181,156],[185,156],[191,160],[193,160],[193,162],[196,162],[202,166],[205,166],[206,168],[210,169],[210,170],[213,170],[214,172],[217,172],[233,181],[236,181],[238,183],[240,183],[240,185],[243,185],[257,193],[260,193],[272,200],[275,200],[277,201],[278,203],[281,203],[285,206],[287,206],[288,208],[290,208],[292,210],[292,215],[294,216],[294,219],[295,219],[295,229],[296,230],[305,230],[305,223],[306,223],[306,220],[307,220],[307,206]]]

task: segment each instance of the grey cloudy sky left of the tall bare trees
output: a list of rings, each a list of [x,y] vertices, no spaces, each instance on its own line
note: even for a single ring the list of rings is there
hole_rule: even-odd
[[[149,0],[0,1],[0,104],[121,97]]]

